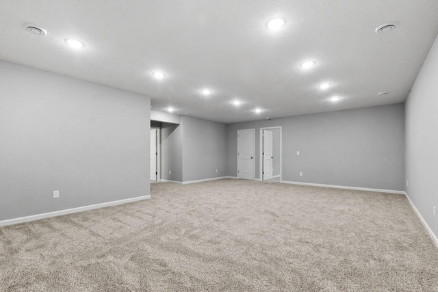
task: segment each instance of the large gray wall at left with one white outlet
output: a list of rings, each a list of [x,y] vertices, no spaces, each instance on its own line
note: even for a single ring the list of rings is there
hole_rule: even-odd
[[[0,221],[150,195],[150,98],[4,61],[0,76]]]

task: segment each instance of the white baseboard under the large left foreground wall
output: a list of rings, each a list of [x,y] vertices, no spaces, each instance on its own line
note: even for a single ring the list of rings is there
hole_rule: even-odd
[[[49,217],[77,213],[77,212],[82,212],[82,211],[87,211],[87,210],[92,210],[92,209],[99,209],[99,208],[103,208],[103,207],[110,207],[110,206],[114,206],[117,204],[126,204],[129,202],[136,202],[136,201],[146,200],[146,199],[150,199],[150,198],[151,198],[151,195],[147,195],[147,196],[141,196],[141,197],[136,197],[136,198],[129,198],[129,199],[124,199],[124,200],[105,202],[105,203],[101,203],[101,204],[92,204],[92,205],[77,207],[77,208],[73,208],[73,209],[66,209],[66,210],[60,210],[60,211],[53,211],[53,212],[49,212],[49,213],[30,215],[30,216],[26,216],[26,217],[8,219],[8,220],[0,221],[0,226],[35,221],[35,220],[40,220],[40,219],[49,218]]]

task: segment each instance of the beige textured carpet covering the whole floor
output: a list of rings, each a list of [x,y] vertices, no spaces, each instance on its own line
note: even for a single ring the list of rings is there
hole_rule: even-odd
[[[0,228],[0,291],[438,291],[406,198],[221,180]]]

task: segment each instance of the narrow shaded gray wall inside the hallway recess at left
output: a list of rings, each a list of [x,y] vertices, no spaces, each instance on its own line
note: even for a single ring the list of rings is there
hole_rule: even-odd
[[[162,179],[183,181],[183,131],[180,124],[162,123]],[[170,173],[169,173],[170,172]]]

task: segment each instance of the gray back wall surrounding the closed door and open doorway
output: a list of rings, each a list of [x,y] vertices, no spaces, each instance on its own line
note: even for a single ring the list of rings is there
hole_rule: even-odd
[[[283,130],[283,181],[404,190],[402,104],[229,124],[228,176],[237,176],[237,130],[256,129],[258,178],[258,129],[274,126]]]

